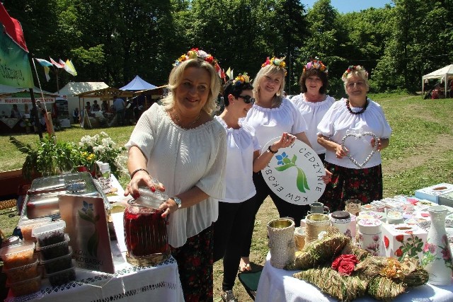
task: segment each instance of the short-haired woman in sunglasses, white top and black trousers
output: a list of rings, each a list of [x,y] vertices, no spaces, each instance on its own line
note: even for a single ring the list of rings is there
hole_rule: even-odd
[[[253,170],[264,168],[273,154],[260,154],[255,130],[240,120],[255,103],[247,74],[239,74],[226,82],[223,97],[225,109],[214,118],[226,129],[226,192],[225,199],[219,201],[219,218],[214,223],[214,262],[224,259],[223,301],[236,301],[233,286],[241,260],[241,245],[247,234],[244,230],[248,230],[254,217]],[[272,149],[287,147],[289,142],[282,138],[273,143]]]

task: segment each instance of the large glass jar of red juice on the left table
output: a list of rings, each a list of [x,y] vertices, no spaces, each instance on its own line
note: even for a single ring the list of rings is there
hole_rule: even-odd
[[[156,198],[156,194],[147,191],[140,188],[140,197],[131,199],[124,213],[126,260],[132,265],[158,265],[170,257],[166,218],[159,210],[164,197],[158,193]]]

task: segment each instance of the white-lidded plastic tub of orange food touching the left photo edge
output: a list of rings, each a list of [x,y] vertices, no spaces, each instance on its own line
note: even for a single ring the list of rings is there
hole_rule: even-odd
[[[33,263],[34,250],[35,243],[31,241],[1,248],[0,257],[4,262],[4,269],[12,269]]]

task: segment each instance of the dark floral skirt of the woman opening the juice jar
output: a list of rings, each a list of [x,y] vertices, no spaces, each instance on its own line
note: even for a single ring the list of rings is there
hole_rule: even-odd
[[[171,248],[186,302],[213,299],[213,234],[214,226],[210,226],[188,238],[185,245]]]

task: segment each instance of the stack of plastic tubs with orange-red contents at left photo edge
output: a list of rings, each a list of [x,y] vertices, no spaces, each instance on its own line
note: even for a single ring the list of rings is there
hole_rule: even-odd
[[[31,294],[41,288],[41,273],[34,251],[33,242],[8,245],[0,250],[4,262],[3,272],[7,277],[6,286],[14,296]]]

